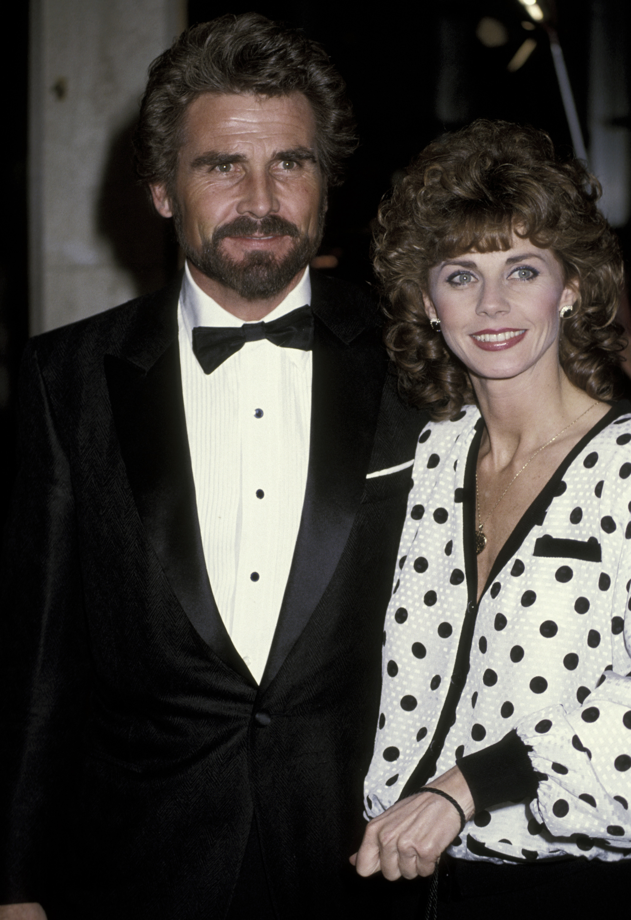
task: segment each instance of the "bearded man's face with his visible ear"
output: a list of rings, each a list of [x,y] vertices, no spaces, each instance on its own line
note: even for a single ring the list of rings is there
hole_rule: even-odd
[[[301,93],[190,103],[173,190],[152,187],[189,261],[247,300],[280,293],[315,255],[326,210],[315,118]]]

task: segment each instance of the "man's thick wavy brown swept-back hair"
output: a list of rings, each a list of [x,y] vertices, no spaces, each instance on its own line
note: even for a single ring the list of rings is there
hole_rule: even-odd
[[[191,26],[149,67],[133,144],[139,178],[173,190],[184,116],[202,93],[294,92],[311,103],[320,169],[327,188],[337,185],[356,146],[355,125],[344,81],[324,49],[258,13]]]

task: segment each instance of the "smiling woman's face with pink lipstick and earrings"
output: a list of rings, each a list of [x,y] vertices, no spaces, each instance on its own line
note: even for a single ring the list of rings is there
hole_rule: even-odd
[[[577,297],[551,249],[519,237],[512,244],[430,269],[427,315],[441,320],[447,345],[479,377],[515,377],[544,355],[557,363],[559,311]]]

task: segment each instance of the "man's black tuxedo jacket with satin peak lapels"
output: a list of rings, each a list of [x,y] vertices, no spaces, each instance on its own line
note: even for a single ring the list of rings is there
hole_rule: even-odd
[[[224,917],[255,817],[278,916],[336,915],[411,484],[410,468],[366,475],[411,460],[424,418],[396,396],[374,305],[315,275],[304,511],[258,686],[204,564],[178,286],[33,339],[25,356],[0,903]]]

